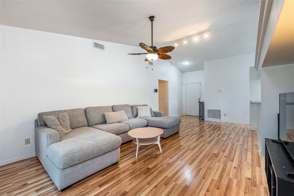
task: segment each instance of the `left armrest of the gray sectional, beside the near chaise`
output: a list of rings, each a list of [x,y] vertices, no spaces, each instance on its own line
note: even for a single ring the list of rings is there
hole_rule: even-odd
[[[36,156],[45,167],[46,150],[51,144],[59,142],[59,134],[56,130],[47,126],[35,127],[35,150]]]

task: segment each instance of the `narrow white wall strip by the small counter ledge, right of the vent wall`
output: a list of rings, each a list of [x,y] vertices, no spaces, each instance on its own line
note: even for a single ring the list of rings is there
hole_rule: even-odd
[[[249,129],[257,130],[257,105],[251,104],[251,100],[261,100],[261,81],[254,66],[249,67]]]

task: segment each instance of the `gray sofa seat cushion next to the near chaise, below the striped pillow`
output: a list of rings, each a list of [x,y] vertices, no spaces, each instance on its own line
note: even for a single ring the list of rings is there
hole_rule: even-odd
[[[124,121],[124,122],[127,122],[127,121]],[[124,122],[123,123],[112,123],[112,124],[103,123],[103,124],[98,124],[98,125],[92,125],[91,127],[95,128],[95,129],[100,129],[100,130],[106,131],[108,133],[118,135],[120,133],[125,133],[130,130],[129,125],[125,124]]]

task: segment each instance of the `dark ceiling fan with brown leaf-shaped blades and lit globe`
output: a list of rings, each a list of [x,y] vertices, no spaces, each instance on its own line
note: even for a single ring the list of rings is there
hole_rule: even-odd
[[[171,59],[171,56],[167,55],[166,53],[173,51],[175,47],[173,46],[164,46],[161,48],[157,48],[156,46],[153,46],[153,21],[154,16],[149,16],[149,20],[151,21],[151,45],[147,46],[145,43],[139,43],[139,46],[147,51],[147,53],[131,53],[131,55],[141,55],[141,54],[147,54],[145,61],[155,61],[157,58],[163,59],[163,60],[169,60]]]

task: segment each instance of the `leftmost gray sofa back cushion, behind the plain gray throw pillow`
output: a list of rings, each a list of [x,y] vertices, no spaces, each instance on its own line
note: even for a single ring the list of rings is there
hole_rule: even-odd
[[[85,109],[83,108],[41,112],[38,114],[37,118],[39,126],[47,126],[44,120],[44,116],[53,116],[64,112],[66,112],[69,115],[71,129],[88,126]]]

